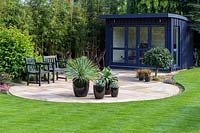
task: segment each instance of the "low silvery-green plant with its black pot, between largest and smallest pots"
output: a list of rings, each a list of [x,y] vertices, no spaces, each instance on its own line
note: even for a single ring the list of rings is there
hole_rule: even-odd
[[[103,78],[96,80],[93,85],[94,96],[96,99],[104,98],[106,81]]]

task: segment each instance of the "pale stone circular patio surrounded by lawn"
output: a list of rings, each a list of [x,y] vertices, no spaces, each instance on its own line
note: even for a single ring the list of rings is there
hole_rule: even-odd
[[[162,82],[143,82],[135,78],[134,71],[117,70],[114,73],[119,77],[119,95],[113,98],[106,95],[104,99],[97,100],[93,95],[92,83],[87,97],[75,97],[71,81],[59,79],[55,83],[42,83],[39,87],[37,84],[20,84],[11,87],[12,95],[51,102],[78,102],[78,103],[112,103],[112,102],[129,102],[162,99],[177,95],[181,90],[174,85],[164,84]]]

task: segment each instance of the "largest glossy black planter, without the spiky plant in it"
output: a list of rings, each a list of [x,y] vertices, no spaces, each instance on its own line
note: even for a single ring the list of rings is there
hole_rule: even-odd
[[[89,91],[89,81],[73,80],[73,90],[76,97],[86,97]]]

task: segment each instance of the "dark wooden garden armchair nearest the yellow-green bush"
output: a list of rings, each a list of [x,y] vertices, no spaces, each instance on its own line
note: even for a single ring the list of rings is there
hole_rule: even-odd
[[[36,75],[36,83],[38,83],[39,80],[39,86],[41,86],[41,77],[44,74],[48,74],[48,84],[49,84],[49,64],[48,63],[36,63],[35,58],[26,58],[26,74],[27,74],[27,85],[29,85],[29,76],[30,75]],[[46,67],[47,69],[42,69]]]

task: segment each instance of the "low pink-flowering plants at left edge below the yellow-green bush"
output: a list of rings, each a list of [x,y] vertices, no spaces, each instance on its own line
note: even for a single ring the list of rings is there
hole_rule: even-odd
[[[12,76],[8,73],[0,73],[0,92],[9,94],[10,85],[8,82],[12,79]]]

